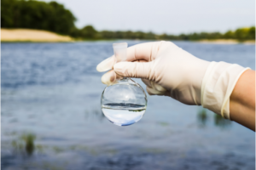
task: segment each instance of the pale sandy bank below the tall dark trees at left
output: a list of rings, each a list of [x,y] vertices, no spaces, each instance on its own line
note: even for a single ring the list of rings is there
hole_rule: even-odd
[[[73,38],[32,29],[1,29],[1,42],[72,42]]]

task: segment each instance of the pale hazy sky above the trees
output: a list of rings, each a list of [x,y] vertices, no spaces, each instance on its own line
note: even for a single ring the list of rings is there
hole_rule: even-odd
[[[180,34],[255,26],[254,0],[55,1],[72,11],[77,27],[92,25],[97,31]]]

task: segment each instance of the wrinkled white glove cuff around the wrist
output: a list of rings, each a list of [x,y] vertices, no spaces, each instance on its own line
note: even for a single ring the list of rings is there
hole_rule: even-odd
[[[201,84],[201,105],[230,119],[230,95],[244,71],[241,65],[214,62],[207,67]]]

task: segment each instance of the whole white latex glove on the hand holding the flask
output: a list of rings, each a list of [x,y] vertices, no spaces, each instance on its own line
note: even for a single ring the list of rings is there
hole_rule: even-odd
[[[126,60],[115,64],[112,56],[97,65],[97,71],[113,69],[102,76],[102,82],[111,85],[120,77],[142,78],[150,95],[203,105],[226,118],[230,118],[230,94],[246,70],[240,65],[198,59],[174,43],[163,41],[127,48]]]

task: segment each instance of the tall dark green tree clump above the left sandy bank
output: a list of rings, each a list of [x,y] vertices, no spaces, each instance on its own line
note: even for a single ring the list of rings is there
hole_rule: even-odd
[[[63,5],[26,0],[2,0],[1,27],[30,28],[69,35],[75,29],[73,14]]]

